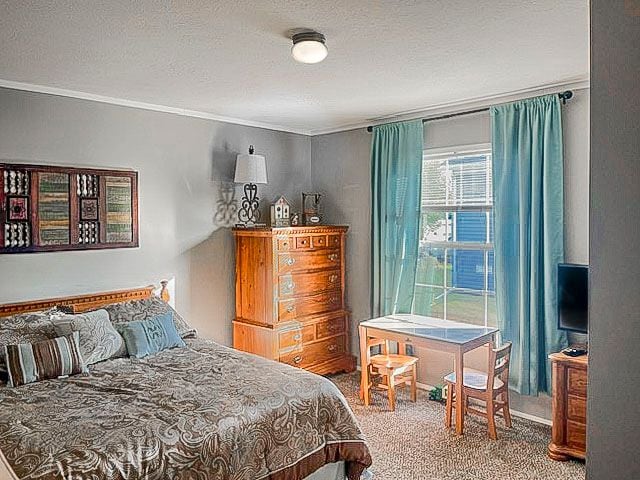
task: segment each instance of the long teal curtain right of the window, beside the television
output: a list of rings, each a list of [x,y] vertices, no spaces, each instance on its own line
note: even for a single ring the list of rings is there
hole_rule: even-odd
[[[564,258],[562,112],[557,95],[491,108],[498,326],[513,342],[511,386],[549,392]]]

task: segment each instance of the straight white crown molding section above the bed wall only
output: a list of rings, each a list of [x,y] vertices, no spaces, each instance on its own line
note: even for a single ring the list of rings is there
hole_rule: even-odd
[[[186,108],[169,107],[167,105],[158,105],[155,103],[138,102],[136,100],[127,100],[125,98],[108,97],[104,95],[96,95],[93,93],[79,92],[76,90],[67,90],[64,88],[48,87],[46,85],[36,85],[33,83],[14,82],[11,80],[0,79],[1,88],[9,88],[12,90],[22,90],[26,92],[45,93],[47,95],[56,95],[58,97],[78,98],[80,100],[89,100],[92,102],[108,103],[110,105],[119,105],[121,107],[138,108],[141,110],[151,110],[154,112],[171,113],[174,115],[182,115],[184,117],[202,118],[205,120],[215,120],[217,122],[232,123],[245,127],[264,128],[267,130],[276,130],[279,132],[295,133],[298,135],[310,135],[308,130],[285,127],[283,125],[254,122],[251,120],[243,120],[235,117],[225,117],[215,115],[213,113],[201,112],[199,110],[189,110]]]

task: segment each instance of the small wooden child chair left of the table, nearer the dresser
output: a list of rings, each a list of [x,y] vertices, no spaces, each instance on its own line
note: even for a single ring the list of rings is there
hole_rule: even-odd
[[[372,347],[381,347],[381,353],[371,355]],[[377,338],[367,339],[367,356],[364,360],[367,369],[367,388],[378,388],[386,390],[389,397],[389,407],[391,411],[396,409],[396,387],[409,384],[411,387],[411,401],[416,401],[416,364],[418,359],[404,354],[404,344],[398,345],[400,353],[389,353],[389,341]],[[381,377],[380,383],[374,384],[373,378]],[[360,391],[360,398],[364,397],[364,392]],[[368,405],[368,402],[365,402]]]

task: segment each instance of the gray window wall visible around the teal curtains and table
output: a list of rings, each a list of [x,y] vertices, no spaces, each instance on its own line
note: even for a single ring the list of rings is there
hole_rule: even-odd
[[[565,224],[566,259],[588,263],[589,257],[589,91],[578,90],[563,109],[565,135]],[[489,143],[488,113],[427,123],[425,147]],[[370,171],[371,134],[364,129],[339,132],[311,139],[311,171],[314,187],[323,192],[326,218],[351,226],[347,247],[347,301],[353,311],[353,331],[370,317]],[[358,352],[357,335],[352,337]],[[434,385],[452,368],[453,359],[431,351],[420,351],[419,380]],[[467,362],[486,367],[486,352],[468,354]],[[513,395],[512,408],[531,415],[551,418],[551,401]]]

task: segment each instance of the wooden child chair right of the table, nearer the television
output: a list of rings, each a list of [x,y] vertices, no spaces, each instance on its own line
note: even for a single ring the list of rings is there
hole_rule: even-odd
[[[489,349],[488,372],[480,372],[471,368],[464,369],[463,398],[461,402],[455,398],[456,374],[450,373],[444,377],[447,384],[447,413],[445,425],[451,428],[453,408],[464,408],[465,414],[473,413],[487,419],[489,437],[498,438],[496,432],[495,414],[502,410],[507,427],[511,428],[511,412],[509,411],[509,360],[511,357],[511,342],[500,348]],[[498,397],[502,397],[498,400]],[[483,412],[469,407],[469,398],[485,402],[487,411]]]

